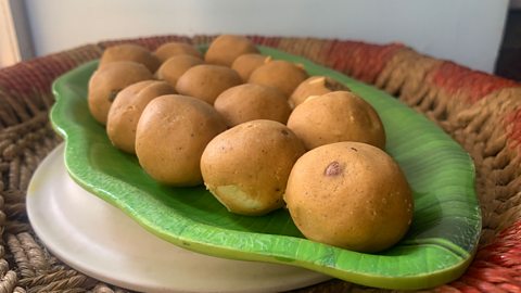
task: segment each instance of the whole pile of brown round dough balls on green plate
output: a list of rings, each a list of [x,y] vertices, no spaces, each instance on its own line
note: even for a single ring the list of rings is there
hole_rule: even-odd
[[[221,35],[207,51],[107,48],[88,85],[92,117],[156,182],[206,189],[229,212],[288,207],[314,241],[378,252],[407,231],[410,188],[374,109],[328,76]]]

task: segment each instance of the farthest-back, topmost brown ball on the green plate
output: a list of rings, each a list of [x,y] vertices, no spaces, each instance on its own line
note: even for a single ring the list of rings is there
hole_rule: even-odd
[[[258,53],[257,48],[249,38],[220,35],[209,44],[204,61],[211,64],[231,66],[238,56],[247,53]]]

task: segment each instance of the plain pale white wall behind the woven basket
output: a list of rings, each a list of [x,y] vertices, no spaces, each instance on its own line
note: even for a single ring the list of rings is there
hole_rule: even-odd
[[[38,55],[105,39],[259,34],[398,41],[493,72],[508,0],[25,0]]]

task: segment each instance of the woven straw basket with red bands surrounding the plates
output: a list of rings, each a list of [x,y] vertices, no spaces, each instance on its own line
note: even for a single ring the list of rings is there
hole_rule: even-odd
[[[432,59],[404,44],[251,37],[303,55],[396,97],[435,122],[473,157],[483,215],[479,252],[458,280],[434,292],[521,292],[521,86]],[[0,293],[128,292],[62,264],[39,242],[25,211],[38,163],[61,139],[51,129],[51,82],[97,59],[104,48],[136,42],[208,43],[211,36],[156,36],[87,44],[0,69]],[[340,280],[294,292],[379,292]]]

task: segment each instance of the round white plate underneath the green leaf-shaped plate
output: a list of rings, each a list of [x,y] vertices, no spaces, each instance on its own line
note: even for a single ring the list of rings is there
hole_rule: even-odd
[[[274,292],[331,279],[297,267],[217,258],[175,246],[76,184],[63,150],[62,144],[52,151],[35,171],[27,214],[46,246],[78,271],[145,292]]]

